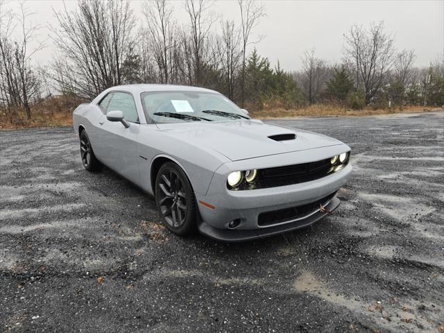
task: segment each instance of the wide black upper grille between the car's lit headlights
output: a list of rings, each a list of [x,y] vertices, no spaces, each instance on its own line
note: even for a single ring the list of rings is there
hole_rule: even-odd
[[[331,167],[330,158],[327,158],[316,162],[261,169],[257,182],[260,188],[309,182],[327,176]]]

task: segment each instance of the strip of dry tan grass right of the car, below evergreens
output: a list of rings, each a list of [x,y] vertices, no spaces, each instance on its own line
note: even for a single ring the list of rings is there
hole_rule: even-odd
[[[424,108],[422,106],[407,106],[402,109],[373,109],[350,110],[336,105],[315,104],[306,108],[284,110],[275,108],[271,110],[252,111],[250,115],[257,119],[293,118],[293,117],[325,117],[325,116],[373,116],[378,114],[395,114],[404,112],[427,112],[441,110],[441,108]]]

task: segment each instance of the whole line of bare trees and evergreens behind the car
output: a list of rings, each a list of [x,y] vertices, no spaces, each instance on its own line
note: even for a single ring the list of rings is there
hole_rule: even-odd
[[[168,83],[215,89],[251,110],[300,108],[336,103],[444,105],[444,55],[416,68],[415,53],[397,51],[383,22],[354,25],[343,35],[343,61],[329,64],[314,49],[302,53],[300,71],[289,72],[260,56],[253,31],[265,16],[255,0],[237,0],[238,24],[212,13],[213,0],[184,0],[188,23],[178,24],[166,0],[145,0],[143,19],[128,1],[78,0],[74,10],[54,12],[56,55],[44,67],[32,58],[38,26],[28,15],[7,10],[0,0],[0,109],[24,110],[58,92],[90,100],[108,87],[127,83]]]

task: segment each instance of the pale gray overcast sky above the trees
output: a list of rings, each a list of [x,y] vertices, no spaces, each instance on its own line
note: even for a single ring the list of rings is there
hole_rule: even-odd
[[[135,15],[140,19],[141,3],[131,1]],[[178,22],[187,23],[181,1],[172,3]],[[279,60],[281,67],[287,70],[300,69],[300,56],[311,48],[316,50],[316,56],[327,62],[340,62],[343,33],[352,24],[368,26],[381,20],[384,20],[386,31],[395,34],[397,49],[413,49],[416,52],[416,66],[427,66],[444,54],[444,0],[269,0],[262,3],[266,17],[253,31],[253,38],[262,36],[256,45],[257,50],[273,65]],[[10,3],[10,6],[14,5]],[[66,5],[74,9],[76,1],[66,1]],[[26,7],[35,13],[32,21],[42,26],[40,40],[46,39],[46,48],[35,56],[43,65],[55,51],[51,40],[47,39],[50,33],[47,26],[57,24],[53,9],[62,10],[63,4],[56,0],[28,0]],[[237,1],[217,0],[211,10],[225,19],[239,22]]]

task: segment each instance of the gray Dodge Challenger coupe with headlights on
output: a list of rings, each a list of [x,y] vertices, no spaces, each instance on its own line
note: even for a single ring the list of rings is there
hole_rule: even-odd
[[[315,223],[339,206],[350,148],[251,119],[222,94],[120,85],[73,114],[87,171],[103,164],[155,197],[166,227],[245,241]]]

